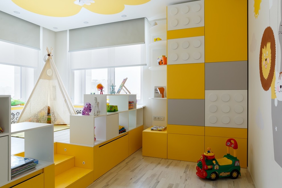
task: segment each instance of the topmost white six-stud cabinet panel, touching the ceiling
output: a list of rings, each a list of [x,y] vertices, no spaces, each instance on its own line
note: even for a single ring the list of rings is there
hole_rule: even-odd
[[[167,6],[167,30],[203,27],[204,0]]]

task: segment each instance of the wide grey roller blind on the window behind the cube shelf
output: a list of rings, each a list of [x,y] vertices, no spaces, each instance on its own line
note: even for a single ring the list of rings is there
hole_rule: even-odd
[[[70,52],[145,43],[145,18],[71,29]]]

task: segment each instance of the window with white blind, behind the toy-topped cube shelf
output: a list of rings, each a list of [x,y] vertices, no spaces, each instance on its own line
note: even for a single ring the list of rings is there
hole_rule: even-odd
[[[100,94],[99,83],[104,86],[103,94],[109,94],[112,84],[117,91],[126,77],[125,87],[140,100],[144,52],[144,44],[70,52],[72,102],[83,103],[83,94]]]

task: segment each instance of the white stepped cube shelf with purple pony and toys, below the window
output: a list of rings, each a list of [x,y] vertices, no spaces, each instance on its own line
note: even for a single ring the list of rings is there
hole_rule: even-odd
[[[98,116],[93,115],[95,97],[99,102],[100,115]],[[141,112],[136,108],[135,94],[84,94],[83,101],[84,104],[91,103],[92,111],[90,115],[70,116],[70,143],[94,146],[120,135],[119,125],[124,126],[127,132],[143,124],[143,109]],[[134,101],[134,108],[130,110],[128,109],[129,101]],[[118,111],[107,112],[107,102],[109,105],[117,105]],[[94,141],[94,135],[96,141]]]

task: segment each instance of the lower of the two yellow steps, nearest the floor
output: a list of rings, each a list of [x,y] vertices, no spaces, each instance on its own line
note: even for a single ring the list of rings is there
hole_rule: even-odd
[[[72,167],[67,171],[55,176],[55,187],[87,187],[94,180],[93,170]]]

